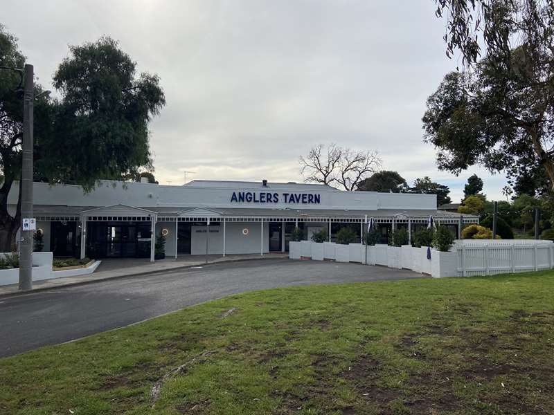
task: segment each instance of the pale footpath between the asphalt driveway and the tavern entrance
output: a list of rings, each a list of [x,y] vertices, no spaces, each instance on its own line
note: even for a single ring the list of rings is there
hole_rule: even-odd
[[[33,290],[19,291],[17,284],[0,286],[0,297],[11,295],[25,295],[37,291],[50,290],[52,288],[61,288],[79,284],[89,284],[91,282],[100,282],[105,279],[136,277],[142,275],[167,273],[179,269],[193,268],[208,264],[219,264],[221,262],[245,261],[251,259],[277,259],[288,258],[286,254],[266,254],[266,255],[188,255],[186,257],[159,259],[150,262],[148,259],[104,259],[96,271],[89,275],[79,275],[76,277],[61,277],[44,279],[33,282]]]

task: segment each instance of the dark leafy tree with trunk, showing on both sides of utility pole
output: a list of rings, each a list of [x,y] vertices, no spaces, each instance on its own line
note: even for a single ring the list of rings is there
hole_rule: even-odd
[[[136,62],[113,39],[70,46],[54,75],[61,98],[36,99],[35,179],[91,190],[102,178],[136,177],[152,169],[148,123],[165,104],[159,77],[136,73]],[[20,68],[17,39],[0,26],[0,66]],[[23,97],[17,71],[0,69],[0,252],[19,229],[21,200],[8,212],[8,194],[21,176]],[[35,85],[35,94],[42,91]]]

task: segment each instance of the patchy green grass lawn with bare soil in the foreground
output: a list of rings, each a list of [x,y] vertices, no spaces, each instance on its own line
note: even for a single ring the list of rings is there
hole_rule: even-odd
[[[554,414],[554,273],[233,295],[1,359],[0,414]]]

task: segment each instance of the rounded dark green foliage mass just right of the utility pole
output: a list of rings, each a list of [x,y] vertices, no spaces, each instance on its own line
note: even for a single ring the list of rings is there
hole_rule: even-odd
[[[44,143],[44,175],[90,189],[100,178],[152,169],[148,123],[166,103],[159,77],[136,73],[136,62],[109,37],[69,51],[54,75],[63,98],[57,133]],[[64,151],[55,151],[60,144]]]

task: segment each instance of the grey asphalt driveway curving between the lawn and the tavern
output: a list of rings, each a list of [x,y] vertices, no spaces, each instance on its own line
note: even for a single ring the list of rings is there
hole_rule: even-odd
[[[0,298],[0,357],[82,338],[245,291],[307,284],[420,278],[408,270],[265,259]]]

